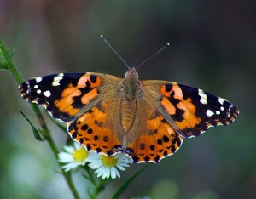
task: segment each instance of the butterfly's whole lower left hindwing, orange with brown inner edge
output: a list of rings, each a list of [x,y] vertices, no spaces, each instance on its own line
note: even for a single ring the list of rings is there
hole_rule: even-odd
[[[119,123],[119,111],[110,112],[111,107],[119,107],[110,96],[93,106],[77,120],[68,123],[68,133],[71,137],[84,145],[88,151],[96,151],[111,156],[116,152],[123,151],[123,133]],[[111,118],[111,119],[110,119]],[[124,135],[124,134],[123,134]]]

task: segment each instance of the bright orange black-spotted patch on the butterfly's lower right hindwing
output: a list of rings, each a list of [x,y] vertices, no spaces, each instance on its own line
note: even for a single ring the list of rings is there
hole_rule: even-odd
[[[159,162],[170,156],[182,145],[178,135],[164,117],[148,119],[148,132],[128,145],[126,153],[134,162]]]

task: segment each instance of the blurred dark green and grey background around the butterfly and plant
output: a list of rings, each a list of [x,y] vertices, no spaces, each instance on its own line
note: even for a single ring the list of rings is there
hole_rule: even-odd
[[[181,82],[232,101],[240,116],[228,127],[185,139],[177,154],[153,164],[123,198],[256,198],[256,1],[0,1],[0,37],[15,48],[22,77],[96,71],[119,77],[165,43],[140,68],[140,79]],[[0,198],[71,198],[46,142],[32,136],[20,109],[38,125],[9,71],[0,72]],[[66,135],[48,122],[58,148]],[[39,127],[39,125],[38,125]],[[121,173],[101,195],[143,165]],[[86,198],[81,173],[75,185]]]

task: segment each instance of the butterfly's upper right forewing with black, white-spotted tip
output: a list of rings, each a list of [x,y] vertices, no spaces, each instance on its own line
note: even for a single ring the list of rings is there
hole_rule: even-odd
[[[227,125],[238,116],[238,109],[226,99],[176,82],[143,81],[154,106],[177,134],[190,138],[210,127]]]

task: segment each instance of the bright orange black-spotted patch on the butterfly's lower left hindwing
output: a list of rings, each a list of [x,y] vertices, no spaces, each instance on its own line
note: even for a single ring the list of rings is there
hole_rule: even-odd
[[[121,151],[121,143],[109,128],[104,127],[107,113],[104,106],[96,105],[68,124],[68,132],[73,139],[84,145],[88,151],[104,153],[108,156]]]

